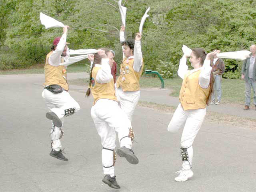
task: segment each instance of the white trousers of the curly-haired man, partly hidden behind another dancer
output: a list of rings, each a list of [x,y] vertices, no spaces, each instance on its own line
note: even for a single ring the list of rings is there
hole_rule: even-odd
[[[122,110],[128,116],[130,122],[132,122],[132,115],[134,109],[140,99],[140,90],[138,91],[126,91],[124,92],[121,87],[116,88],[116,97],[121,104]]]

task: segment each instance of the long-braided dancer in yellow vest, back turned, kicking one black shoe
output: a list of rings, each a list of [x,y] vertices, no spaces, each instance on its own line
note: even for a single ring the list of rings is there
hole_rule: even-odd
[[[90,56],[88,57],[90,59]],[[114,80],[111,74],[113,54],[107,49],[99,50],[94,55],[94,63],[90,73],[90,85],[86,96],[94,98],[91,116],[101,138],[102,165],[105,174],[102,182],[111,188],[120,189],[114,175],[116,132],[120,148],[116,153],[126,158],[131,164],[138,164],[139,160],[132,151],[132,126],[124,111],[118,106],[115,95]]]

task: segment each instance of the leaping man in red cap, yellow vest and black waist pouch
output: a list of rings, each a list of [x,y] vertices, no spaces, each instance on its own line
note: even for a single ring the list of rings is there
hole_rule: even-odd
[[[47,54],[44,66],[45,82],[42,97],[49,109],[46,118],[52,120],[50,156],[59,160],[68,161],[62,154],[60,138],[63,135],[61,118],[70,116],[80,110],[79,104],[68,93],[66,80],[66,66],[64,61],[68,59],[67,51],[68,26],[63,28],[61,37],[54,39],[52,51]]]

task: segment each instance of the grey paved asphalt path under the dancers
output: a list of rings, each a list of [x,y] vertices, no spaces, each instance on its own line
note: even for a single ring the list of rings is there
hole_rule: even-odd
[[[69,79],[84,74],[68,74]],[[140,162],[118,157],[121,190],[102,183],[101,144],[90,117],[85,86],[70,86],[81,110],[65,119],[62,144],[68,162],[49,156],[50,126],[41,97],[44,76],[0,76],[0,192],[255,192],[256,131],[203,123],[194,142],[194,177],[175,182],[180,170],[180,136],[167,132],[172,114],[138,106],[133,116]],[[152,90],[160,99],[165,90]],[[142,100],[151,98],[142,90]],[[167,96],[166,96],[167,97]],[[170,99],[171,100],[171,99]],[[164,103],[164,102],[163,102]],[[251,112],[252,113],[252,112]]]

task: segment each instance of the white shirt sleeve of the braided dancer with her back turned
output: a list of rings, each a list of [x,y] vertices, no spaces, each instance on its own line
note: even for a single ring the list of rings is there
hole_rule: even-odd
[[[111,68],[108,64],[109,59],[108,58],[102,58],[101,59],[101,65],[95,64],[94,67],[100,67],[101,69],[98,70],[96,75],[96,82],[100,84],[108,83],[113,79],[113,76],[111,74]]]

